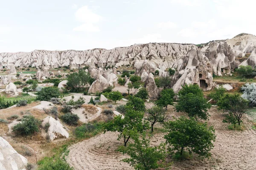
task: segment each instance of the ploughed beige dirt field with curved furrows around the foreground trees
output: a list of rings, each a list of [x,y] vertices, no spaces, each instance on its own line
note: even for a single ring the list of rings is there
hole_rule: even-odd
[[[172,116],[178,117],[183,113],[176,113],[168,108]],[[215,107],[209,110],[209,125],[214,126],[217,135],[212,157],[201,160],[193,156],[190,160],[172,162],[172,170],[255,170],[256,169],[256,131],[251,129],[251,118],[244,115],[244,131],[228,130],[223,123],[224,114]],[[125,158],[115,150],[122,141],[117,141],[118,133],[107,132],[91,139],[84,140],[71,146],[67,162],[75,170],[130,170],[127,163],[120,161]],[[164,133],[157,133],[151,139],[153,145],[164,142]]]

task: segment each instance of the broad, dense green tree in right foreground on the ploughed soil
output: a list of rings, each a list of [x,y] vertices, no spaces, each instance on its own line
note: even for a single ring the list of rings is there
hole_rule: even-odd
[[[181,116],[175,121],[166,124],[169,133],[164,136],[169,150],[177,150],[180,155],[186,149],[189,153],[197,153],[199,156],[208,157],[215,142],[215,130],[207,123],[197,123],[194,118],[187,119]]]

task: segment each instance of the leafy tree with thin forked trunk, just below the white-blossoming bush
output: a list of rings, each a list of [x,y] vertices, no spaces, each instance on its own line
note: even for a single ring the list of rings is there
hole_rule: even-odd
[[[223,109],[236,117],[238,125],[242,122],[241,118],[248,108],[249,101],[243,99],[239,94],[225,94],[218,102],[219,109]]]

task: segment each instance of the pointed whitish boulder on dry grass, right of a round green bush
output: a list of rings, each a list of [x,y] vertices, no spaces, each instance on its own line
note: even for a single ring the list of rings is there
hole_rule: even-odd
[[[48,116],[43,119],[42,125],[44,126],[47,122],[50,124],[47,134],[49,135],[51,141],[59,138],[69,138],[69,133],[64,129],[63,125],[61,125],[58,120]]]

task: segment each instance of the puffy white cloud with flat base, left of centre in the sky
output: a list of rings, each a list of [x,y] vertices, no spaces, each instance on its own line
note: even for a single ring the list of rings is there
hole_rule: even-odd
[[[88,8],[83,6],[76,11],[76,20],[83,23],[81,26],[73,28],[73,31],[87,31],[87,32],[99,32],[100,29],[96,26],[102,20],[102,17]]]

